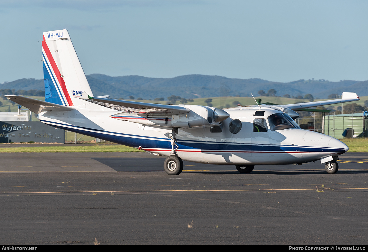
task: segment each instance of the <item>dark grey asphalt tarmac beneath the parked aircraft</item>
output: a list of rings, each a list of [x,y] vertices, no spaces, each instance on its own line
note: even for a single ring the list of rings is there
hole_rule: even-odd
[[[3,245],[368,243],[367,152],[341,155],[336,174],[319,162],[240,174],[184,161],[169,176],[164,157],[141,152],[0,158]]]

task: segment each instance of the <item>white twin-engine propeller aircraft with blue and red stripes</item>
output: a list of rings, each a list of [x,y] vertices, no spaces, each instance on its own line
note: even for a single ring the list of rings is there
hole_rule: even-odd
[[[66,29],[43,33],[45,101],[7,95],[38,114],[41,122],[146,152],[167,156],[169,175],[183,171],[183,160],[235,165],[250,173],[254,165],[301,165],[321,161],[328,173],[338,170],[341,141],[302,130],[297,108],[358,101],[341,99],[286,105],[218,109],[198,105],[160,105],[93,96]]]

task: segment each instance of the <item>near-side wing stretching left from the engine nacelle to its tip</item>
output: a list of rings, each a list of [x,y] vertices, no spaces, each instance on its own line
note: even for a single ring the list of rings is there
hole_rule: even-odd
[[[190,109],[188,108],[174,105],[153,104],[137,101],[124,101],[124,100],[115,100],[91,96],[88,96],[88,98],[86,96],[82,96],[81,99],[99,104],[103,107],[112,108],[118,111],[125,111],[128,113],[132,112],[134,114],[145,116],[152,116],[152,115],[171,116],[190,112]]]

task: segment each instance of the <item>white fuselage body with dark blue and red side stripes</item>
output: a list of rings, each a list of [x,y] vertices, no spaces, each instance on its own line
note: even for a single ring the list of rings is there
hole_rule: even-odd
[[[327,156],[337,156],[348,150],[341,141],[298,127],[267,132],[254,132],[254,120],[281,113],[262,108],[263,116],[255,116],[257,107],[227,109],[230,117],[222,122],[222,132],[212,133],[210,127],[178,128],[176,133],[177,155],[185,161],[211,164],[296,164]],[[109,108],[86,104],[67,112],[43,112],[39,119],[61,129],[112,141],[156,154],[171,155],[171,127],[144,125],[116,120]],[[129,115],[127,113],[127,115]],[[130,114],[132,115],[132,114]],[[233,134],[229,123],[241,121],[241,130]]]

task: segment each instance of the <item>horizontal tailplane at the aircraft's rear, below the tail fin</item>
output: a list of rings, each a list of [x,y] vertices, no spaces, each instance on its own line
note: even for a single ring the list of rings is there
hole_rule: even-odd
[[[44,111],[71,111],[73,108],[47,102],[47,101],[40,101],[24,96],[18,96],[16,94],[9,94],[5,96],[11,101],[14,101],[26,108],[28,108],[30,111],[39,114]]]

